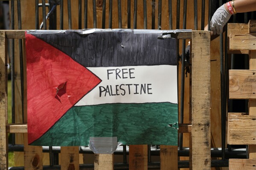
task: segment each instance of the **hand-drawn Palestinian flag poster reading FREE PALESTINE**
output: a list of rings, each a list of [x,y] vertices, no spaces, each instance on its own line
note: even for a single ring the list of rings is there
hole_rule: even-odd
[[[28,141],[177,145],[176,40],[159,30],[27,31]]]

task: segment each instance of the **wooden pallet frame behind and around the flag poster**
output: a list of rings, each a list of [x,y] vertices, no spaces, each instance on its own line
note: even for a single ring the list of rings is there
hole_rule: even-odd
[[[191,169],[210,170],[210,32],[193,31],[173,34],[178,39],[191,39],[192,73],[191,102],[192,124],[179,124],[179,133],[191,133]],[[27,126],[7,124],[7,49],[6,40],[23,39],[24,30],[0,31],[0,170],[8,169],[8,133],[24,134],[25,170],[42,170],[42,147],[28,146]],[[24,45],[25,47],[25,45]],[[24,49],[23,52],[26,50]],[[24,75],[26,75],[26,54],[24,53]],[[26,82],[26,77],[24,77]],[[26,101],[26,84],[24,84]],[[24,104],[26,120],[26,102]],[[178,169],[177,146],[160,146],[161,170]],[[104,168],[103,168],[104,167]],[[94,156],[95,170],[113,170],[113,155]],[[79,169],[78,147],[61,147],[61,169]],[[129,146],[129,170],[147,170],[147,145]]]

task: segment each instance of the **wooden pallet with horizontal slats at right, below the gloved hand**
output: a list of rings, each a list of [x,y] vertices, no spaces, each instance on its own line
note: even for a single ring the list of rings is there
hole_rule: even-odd
[[[230,99],[249,99],[249,113],[228,113],[228,144],[248,144],[249,159],[230,159],[230,170],[256,169],[256,20],[228,25],[229,52],[249,54],[249,70],[230,70]]]

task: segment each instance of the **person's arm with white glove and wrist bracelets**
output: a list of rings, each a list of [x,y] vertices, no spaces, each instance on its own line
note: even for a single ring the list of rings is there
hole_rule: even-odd
[[[223,27],[232,14],[256,11],[256,0],[233,0],[228,3],[218,8],[212,16],[211,30],[214,34],[223,32]]]

